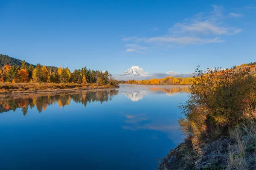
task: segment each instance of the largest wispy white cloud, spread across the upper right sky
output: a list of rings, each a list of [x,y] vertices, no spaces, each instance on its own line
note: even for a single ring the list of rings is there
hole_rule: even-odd
[[[190,19],[175,23],[169,28],[169,34],[158,37],[125,37],[122,41],[138,44],[160,44],[160,45],[202,45],[207,43],[223,42],[224,35],[238,34],[242,30],[229,26],[225,21],[227,15],[223,14],[224,8],[212,6],[209,13],[199,13]],[[242,14],[230,12],[230,17],[241,17]],[[134,48],[135,49],[135,48]],[[138,49],[138,48],[137,48]]]

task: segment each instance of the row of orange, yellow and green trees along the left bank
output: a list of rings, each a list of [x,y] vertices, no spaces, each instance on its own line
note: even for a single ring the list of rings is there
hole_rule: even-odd
[[[25,61],[21,65],[4,65],[0,69],[0,82],[12,83],[96,83],[97,85],[117,85],[117,81],[108,71],[94,71],[86,67],[76,69],[72,73],[69,68],[59,67],[58,70],[45,65],[29,66]]]

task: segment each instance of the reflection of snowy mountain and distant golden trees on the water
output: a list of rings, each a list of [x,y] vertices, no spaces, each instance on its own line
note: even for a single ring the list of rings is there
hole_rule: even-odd
[[[136,85],[138,88],[134,88],[134,85],[123,85],[122,94],[128,97],[133,102],[137,102],[143,99],[144,96],[154,94],[167,94],[173,96],[177,93],[189,93],[189,85]],[[136,90],[136,91],[134,91]]]

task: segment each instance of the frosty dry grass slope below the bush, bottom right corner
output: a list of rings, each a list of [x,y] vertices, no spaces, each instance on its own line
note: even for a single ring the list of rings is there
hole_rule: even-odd
[[[244,122],[230,129],[229,136],[205,142],[200,152],[182,143],[160,161],[158,169],[256,170],[256,122]]]

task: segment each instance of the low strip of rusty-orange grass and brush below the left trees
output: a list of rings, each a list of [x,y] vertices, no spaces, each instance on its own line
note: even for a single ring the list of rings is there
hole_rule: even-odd
[[[53,91],[73,91],[88,89],[116,88],[113,85],[76,84],[76,83],[0,83],[0,94],[18,94]]]

